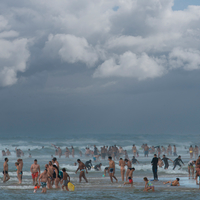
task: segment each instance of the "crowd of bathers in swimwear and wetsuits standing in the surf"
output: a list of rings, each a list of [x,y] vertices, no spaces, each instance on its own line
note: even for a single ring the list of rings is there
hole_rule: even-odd
[[[61,156],[65,156],[66,158],[69,158],[69,156],[72,156],[74,158],[75,156],[75,150],[74,147],[71,146],[71,148],[66,147],[65,153],[63,154],[60,147],[55,146],[52,144],[52,146],[55,147],[55,156],[58,156],[59,158]],[[42,147],[44,148],[44,147]],[[168,145],[167,148],[164,146],[151,146],[149,147],[147,144],[143,144],[141,146],[141,149],[144,152],[144,157],[148,157],[149,154],[153,154],[153,159],[151,160],[152,165],[152,172],[154,179],[152,181],[148,180],[147,177],[144,177],[143,180],[145,182],[144,191],[155,191],[155,187],[153,185],[153,181],[158,181],[158,168],[163,167],[165,170],[169,168],[169,161],[173,163],[173,170],[179,166],[181,167],[184,165],[184,162],[181,159],[181,156],[177,156],[177,149],[176,146]],[[22,183],[22,177],[23,177],[23,159],[21,157],[24,156],[24,152],[20,149],[15,149],[16,151],[16,157],[17,162],[15,163],[16,166],[16,174],[18,178],[18,184]],[[31,158],[30,149],[29,151],[29,157]],[[96,171],[104,171],[104,175],[106,176],[106,173],[109,174],[110,181],[113,183],[113,180],[118,182],[117,177],[115,176],[116,171],[116,164],[118,162],[118,165],[120,167],[120,173],[121,173],[121,180],[124,182],[124,185],[129,184],[131,187],[133,186],[133,172],[135,171],[135,168],[132,165],[139,164],[138,157],[139,157],[139,151],[136,147],[136,145],[133,144],[132,146],[132,158],[129,158],[128,153],[126,150],[124,150],[121,146],[118,147],[116,145],[114,146],[103,146],[99,149],[94,145],[92,148],[86,147],[85,149],[85,157],[90,158],[90,160],[83,163],[80,159],[77,159],[77,163],[75,162],[74,165],[78,165],[77,170],[75,173],[80,171],[79,174],[79,182],[82,181],[82,178],[85,180],[85,182],[88,182],[86,178],[86,174],[88,173],[91,168],[93,168]],[[200,177],[200,156],[199,154],[199,148],[195,145],[193,147],[192,145],[188,149],[188,153],[190,154],[190,161],[188,162],[188,173],[189,178],[193,178],[196,180],[196,184],[198,183],[198,179]],[[2,156],[4,156],[4,164],[3,164],[3,182],[7,182],[10,179],[9,176],[9,169],[8,169],[8,157],[11,155],[10,151],[8,149],[5,149],[2,151]],[[177,158],[173,161],[168,156],[176,156]],[[79,156],[82,157],[83,153],[79,151]],[[162,158],[161,158],[162,156]],[[67,173],[66,168],[60,168],[59,162],[56,157],[51,155],[52,160],[49,161],[47,164],[45,164],[45,170],[41,173],[40,171],[40,165],[37,162],[37,159],[34,160],[34,163],[30,167],[30,171],[32,174],[32,180],[34,187],[34,192],[37,192],[37,190],[42,187],[42,192],[46,193],[46,188],[52,189],[53,185],[55,185],[56,189],[59,189],[60,186],[62,189],[66,189],[69,191],[69,183],[70,183],[70,176]],[[137,158],[137,159],[136,159]],[[197,158],[197,160],[194,159]],[[100,162],[101,160],[108,159],[108,166],[104,169],[101,169],[102,164],[95,164],[92,165],[92,160],[96,162]],[[116,162],[117,161],[117,162]],[[196,174],[195,174],[196,173]],[[174,181],[167,181],[163,184],[170,184],[171,186],[180,186],[179,178],[176,178]]]

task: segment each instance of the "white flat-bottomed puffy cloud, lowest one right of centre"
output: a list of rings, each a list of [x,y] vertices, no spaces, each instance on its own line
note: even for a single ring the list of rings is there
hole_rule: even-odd
[[[156,78],[166,73],[162,66],[163,61],[151,58],[146,53],[140,56],[132,52],[125,52],[118,58],[110,58],[100,65],[94,73],[94,77],[134,77],[138,80]]]

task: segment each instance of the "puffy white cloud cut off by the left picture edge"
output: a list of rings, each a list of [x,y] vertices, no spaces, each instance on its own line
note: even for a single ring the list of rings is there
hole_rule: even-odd
[[[17,82],[17,72],[24,72],[27,68],[28,40],[25,38],[5,39],[16,37],[18,33],[13,30],[4,31],[9,29],[7,20],[0,16],[0,21],[3,22],[0,27],[2,31],[0,32],[0,86],[9,86]]]

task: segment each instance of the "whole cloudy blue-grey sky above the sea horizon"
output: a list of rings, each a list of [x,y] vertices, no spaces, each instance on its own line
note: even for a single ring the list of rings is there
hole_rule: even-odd
[[[199,133],[197,0],[1,0],[0,134]]]

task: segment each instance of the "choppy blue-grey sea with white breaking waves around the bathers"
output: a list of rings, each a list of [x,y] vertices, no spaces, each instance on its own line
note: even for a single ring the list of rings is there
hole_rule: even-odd
[[[143,192],[144,181],[143,177],[146,176],[149,179],[153,178],[151,159],[152,154],[149,154],[148,158],[143,155],[141,145],[147,143],[148,146],[164,146],[167,147],[169,144],[176,145],[177,153],[182,156],[185,166],[181,169],[178,167],[172,170],[172,163],[169,161],[170,167],[168,170],[163,168],[158,169],[159,181],[154,183],[156,192]],[[75,149],[75,157],[65,158],[63,155],[58,158],[60,168],[65,167],[67,173],[71,177],[71,182],[75,185],[74,192],[63,192],[61,189],[47,190],[47,194],[41,194],[41,190],[37,193],[33,193],[33,185],[31,179],[30,166],[33,164],[33,160],[37,159],[38,164],[41,167],[41,171],[45,168],[45,164],[50,161],[51,155],[55,155],[55,148],[51,145],[54,144],[59,146],[63,154],[65,148],[70,149],[71,146]],[[82,180],[78,182],[78,175],[75,174],[77,166],[74,166],[74,162],[80,158],[83,162],[92,158],[86,158],[84,156],[85,148],[90,147],[93,149],[93,145],[96,145],[98,149],[106,146],[122,146],[124,150],[128,151],[129,158],[132,155],[132,145],[135,144],[139,150],[139,157],[137,158],[140,164],[134,165],[135,171],[133,173],[134,187],[130,185],[123,186],[123,182],[120,177],[120,167],[118,161],[116,162],[116,176],[119,180],[118,183],[112,184],[108,175],[103,177],[103,171],[95,171],[91,169],[88,174],[88,183]],[[187,163],[189,162],[188,149],[190,145],[199,146],[199,135],[198,134],[73,134],[73,135],[59,135],[54,136],[48,134],[36,134],[34,136],[24,137],[13,137],[4,136],[0,138],[0,150],[9,149],[11,156],[9,156],[9,175],[11,179],[7,183],[3,183],[3,174],[1,174],[0,182],[0,197],[1,199],[193,199],[199,196],[199,186],[195,184],[194,179],[188,178]],[[44,148],[42,148],[44,146]],[[22,185],[18,185],[16,177],[16,168],[14,163],[16,162],[15,148],[20,148],[24,151],[22,157],[24,162],[23,167],[23,182]],[[30,149],[30,152],[28,151]],[[83,156],[79,156],[79,151],[82,151]],[[29,158],[31,153],[32,158]],[[174,160],[176,157],[169,156],[170,159]],[[108,160],[100,161],[103,166],[102,169],[108,166]],[[4,157],[0,155],[0,169],[3,171]],[[93,164],[98,164],[94,162]],[[163,185],[164,181],[175,180],[176,177],[180,178],[180,187],[171,187]]]

